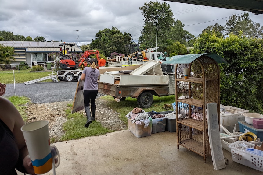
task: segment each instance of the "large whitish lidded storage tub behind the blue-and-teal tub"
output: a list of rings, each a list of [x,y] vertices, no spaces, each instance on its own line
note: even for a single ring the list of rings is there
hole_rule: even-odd
[[[226,112],[220,112],[220,124],[222,124],[229,132],[233,132],[235,124],[236,131],[238,132],[238,121],[245,121],[245,117],[241,113],[246,113],[248,110],[240,109],[232,106],[224,106]],[[220,129],[220,133],[225,133]]]

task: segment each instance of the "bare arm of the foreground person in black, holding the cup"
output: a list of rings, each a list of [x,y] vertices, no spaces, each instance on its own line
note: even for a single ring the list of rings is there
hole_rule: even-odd
[[[16,140],[16,145],[19,150],[19,163],[20,167],[24,169],[29,174],[35,174],[34,168],[32,166],[30,157],[28,155],[28,150],[26,142],[20,128],[25,124],[23,118],[21,117],[19,111],[9,100],[0,97],[0,118],[12,131],[14,138]]]

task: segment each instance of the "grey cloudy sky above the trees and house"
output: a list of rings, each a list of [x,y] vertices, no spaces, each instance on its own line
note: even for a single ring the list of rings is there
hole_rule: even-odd
[[[155,0],[152,0],[155,1]],[[138,43],[144,17],[139,7],[143,0],[1,0],[0,30],[25,37],[43,36],[46,41],[88,44],[104,28],[117,27],[130,33]],[[198,36],[209,25],[224,26],[232,14],[246,11],[159,1],[170,4],[174,18],[185,24],[184,29]],[[263,25],[263,14],[249,12],[250,19]],[[239,15],[239,16],[240,16]]]

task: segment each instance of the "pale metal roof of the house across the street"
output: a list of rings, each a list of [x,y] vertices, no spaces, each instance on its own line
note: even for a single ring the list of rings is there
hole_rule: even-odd
[[[64,42],[36,42],[36,41],[0,41],[0,44],[4,46],[10,46],[14,48],[26,48],[27,52],[56,52],[60,51],[60,44]],[[75,43],[69,43],[75,45],[76,52],[82,52],[81,48]],[[70,47],[69,47],[70,49]],[[71,50],[69,50],[71,51]],[[74,51],[74,49],[73,49]]]

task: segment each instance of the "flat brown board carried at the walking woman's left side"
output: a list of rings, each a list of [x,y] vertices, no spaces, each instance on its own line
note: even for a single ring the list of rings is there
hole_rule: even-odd
[[[83,85],[84,85],[84,80],[79,79],[77,82],[77,88],[72,105],[71,114],[84,109]]]

